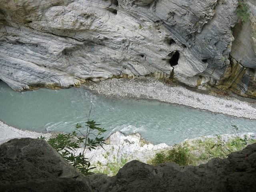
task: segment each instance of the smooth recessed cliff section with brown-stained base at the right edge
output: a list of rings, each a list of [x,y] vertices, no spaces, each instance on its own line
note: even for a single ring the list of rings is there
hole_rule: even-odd
[[[248,0],[250,22],[237,23],[230,52],[230,66],[218,88],[256,98],[256,2]]]

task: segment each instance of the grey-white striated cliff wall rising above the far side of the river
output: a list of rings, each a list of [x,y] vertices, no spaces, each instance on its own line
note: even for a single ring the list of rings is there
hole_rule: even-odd
[[[256,98],[254,0],[245,24],[238,0],[0,4],[0,79],[15,90],[153,75]]]

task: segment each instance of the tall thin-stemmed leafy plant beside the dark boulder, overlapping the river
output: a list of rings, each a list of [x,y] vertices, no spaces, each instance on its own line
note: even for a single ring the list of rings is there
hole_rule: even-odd
[[[90,109],[91,113],[92,108]],[[90,167],[90,160],[86,158],[86,152],[96,149],[102,144],[106,144],[104,137],[99,137],[106,130],[100,128],[100,124],[96,124],[90,119],[90,113],[87,116],[85,125],[76,124],[76,130],[68,134],[58,134],[55,138],[50,138],[48,143],[66,160],[80,170],[82,174],[92,174],[91,170],[96,167]],[[92,138],[93,137],[93,138]],[[78,149],[82,148],[82,152],[78,153]],[[103,148],[104,149],[104,148]]]

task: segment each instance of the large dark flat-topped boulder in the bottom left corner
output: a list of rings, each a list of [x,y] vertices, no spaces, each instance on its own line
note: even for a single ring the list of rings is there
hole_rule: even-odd
[[[91,191],[88,179],[41,139],[12,139],[0,146],[0,191]]]

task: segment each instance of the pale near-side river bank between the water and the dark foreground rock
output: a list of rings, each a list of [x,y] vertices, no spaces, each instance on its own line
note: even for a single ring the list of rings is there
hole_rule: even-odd
[[[18,130],[0,122],[0,144],[13,138],[40,138],[41,135],[48,139],[54,136],[54,133],[42,134]],[[246,144],[240,142],[240,139],[244,138],[246,138]],[[232,141],[238,142],[238,145],[232,146]],[[220,149],[217,147],[212,149],[213,146],[218,146],[220,142],[222,142],[223,148],[226,147],[226,152],[230,153],[241,150],[248,144],[256,142],[256,133],[238,134],[236,132],[235,134],[224,134],[221,136],[202,136],[186,139],[180,142],[179,145],[186,148],[193,157],[192,165],[199,165],[208,162],[208,160],[214,157],[224,157]],[[91,166],[96,167],[93,172],[104,173],[108,176],[114,176],[127,162],[139,160],[140,162],[149,163],[156,153],[166,152],[173,148],[173,146],[168,146],[164,143],[154,145],[147,142],[139,133],[125,135],[120,131],[111,134],[106,139],[106,143],[107,145],[104,145],[104,149],[98,148],[88,151],[86,157],[90,159]],[[79,154],[82,151],[83,148],[80,148],[76,153]]]

